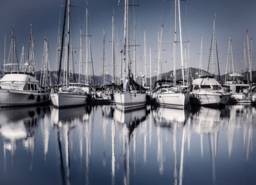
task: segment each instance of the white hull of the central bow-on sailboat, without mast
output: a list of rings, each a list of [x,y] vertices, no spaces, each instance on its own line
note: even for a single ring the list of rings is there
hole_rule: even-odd
[[[137,109],[145,106],[146,95],[142,93],[115,93],[114,102],[119,109]]]

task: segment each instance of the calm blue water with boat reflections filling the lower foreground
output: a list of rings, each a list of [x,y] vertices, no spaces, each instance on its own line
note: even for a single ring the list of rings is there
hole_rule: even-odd
[[[0,110],[0,184],[255,184],[256,109]]]

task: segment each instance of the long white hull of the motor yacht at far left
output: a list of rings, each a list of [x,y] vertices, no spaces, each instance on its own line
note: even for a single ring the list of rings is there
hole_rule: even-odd
[[[0,89],[0,106],[32,106],[49,103],[49,93]]]

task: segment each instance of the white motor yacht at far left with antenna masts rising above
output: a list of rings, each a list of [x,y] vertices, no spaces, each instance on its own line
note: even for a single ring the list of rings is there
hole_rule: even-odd
[[[23,50],[24,51],[24,50]],[[9,61],[4,62],[4,76],[0,80],[0,106],[29,106],[49,103],[49,92],[41,89],[35,74],[34,40],[32,25],[29,42],[29,57],[19,64],[15,45],[14,28],[9,52]]]

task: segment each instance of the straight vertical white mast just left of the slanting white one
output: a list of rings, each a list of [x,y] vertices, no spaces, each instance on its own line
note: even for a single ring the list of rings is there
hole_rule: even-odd
[[[174,2],[173,85],[176,86],[177,0]]]

